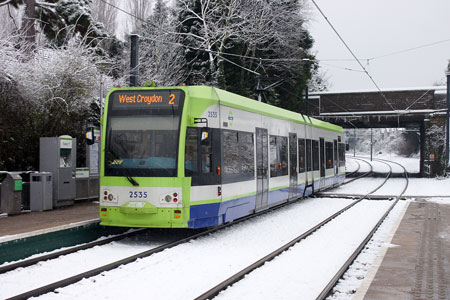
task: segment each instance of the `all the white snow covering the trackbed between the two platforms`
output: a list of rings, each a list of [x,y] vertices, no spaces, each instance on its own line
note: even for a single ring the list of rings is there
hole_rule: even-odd
[[[347,161],[347,169],[355,165],[351,159]],[[405,164],[408,166],[408,163]],[[382,164],[377,166],[377,170],[385,172],[386,167]],[[410,171],[414,164],[411,163],[407,168]],[[397,193],[398,185],[404,181],[402,178],[390,180],[393,183],[383,194]],[[362,194],[369,190],[369,186],[376,185],[374,181],[378,179],[357,180],[336,191],[346,191],[348,188],[351,193]],[[412,179],[407,194],[413,199],[401,201],[394,208],[373,237],[370,246],[358,256],[344,280],[335,288],[331,299],[352,298],[380,249],[392,246],[389,244],[389,237],[395,231],[409,201],[420,198],[450,205],[449,184],[450,179]],[[208,237],[84,279],[59,289],[58,293],[49,293],[39,299],[193,299],[350,202],[348,199],[331,198],[301,200]],[[223,291],[217,299],[315,299],[323,285],[335,274],[391,203],[361,202],[311,237]],[[106,248],[96,247],[24,270],[1,274],[0,298],[19,294],[43,283],[60,280],[85,271],[86,268],[157,245],[151,237],[140,242],[115,242]]]

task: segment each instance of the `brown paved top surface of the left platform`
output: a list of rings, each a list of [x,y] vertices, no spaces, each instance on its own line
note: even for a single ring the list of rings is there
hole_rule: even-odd
[[[64,225],[98,219],[98,202],[75,202],[49,211],[22,213],[0,218],[0,239]]]

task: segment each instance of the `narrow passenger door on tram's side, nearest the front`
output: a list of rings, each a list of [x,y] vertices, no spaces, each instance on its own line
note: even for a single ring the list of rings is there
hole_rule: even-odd
[[[256,128],[256,212],[267,207],[268,192],[269,155],[267,129]]]

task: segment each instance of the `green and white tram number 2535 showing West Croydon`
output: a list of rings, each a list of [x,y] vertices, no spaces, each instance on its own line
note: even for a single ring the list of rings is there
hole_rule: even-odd
[[[217,88],[114,88],[102,120],[102,225],[220,225],[338,185],[341,127]]]

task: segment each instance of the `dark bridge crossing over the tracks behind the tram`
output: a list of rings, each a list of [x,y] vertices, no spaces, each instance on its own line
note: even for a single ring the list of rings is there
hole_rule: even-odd
[[[305,99],[304,112],[344,128],[408,128],[420,132],[420,173],[441,175],[445,169],[444,149],[433,148],[427,130],[444,130],[447,118],[447,89],[392,89],[383,91],[319,92]]]

